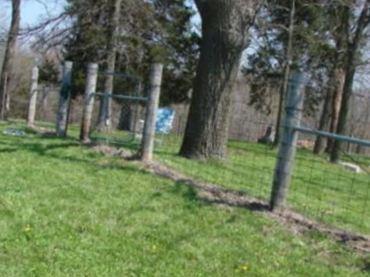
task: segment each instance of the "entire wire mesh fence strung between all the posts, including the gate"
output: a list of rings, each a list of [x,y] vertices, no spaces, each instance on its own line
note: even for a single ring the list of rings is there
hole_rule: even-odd
[[[131,87],[130,87],[131,86]],[[127,85],[127,95],[144,97],[137,83]],[[58,85],[41,84],[37,98],[36,119],[40,126],[55,127],[59,100]],[[135,91],[136,90],[136,91]],[[98,92],[102,87],[98,87]],[[94,103],[94,140],[119,147],[137,149],[142,139],[145,105],[135,99],[112,97],[111,131],[97,128],[103,95]],[[26,118],[28,96],[11,99],[14,118]],[[354,95],[351,100],[348,135],[370,138],[370,96]],[[82,117],[82,97],[72,99],[69,122],[79,129]],[[219,186],[243,191],[270,200],[276,166],[277,149],[272,145],[276,114],[265,115],[249,106],[248,99],[236,100],[230,125],[228,159],[225,161],[192,161],[178,156],[186,128],[188,104],[173,106],[175,118],[169,133],[158,132],[155,138],[156,159],[191,177]],[[318,118],[305,117],[302,125],[317,129]],[[329,154],[313,154],[317,135],[299,134],[295,167],[287,198],[287,206],[309,218],[347,230],[370,234],[370,149],[347,141],[342,143],[341,162],[329,162]],[[326,140],[326,139],[324,139]]]

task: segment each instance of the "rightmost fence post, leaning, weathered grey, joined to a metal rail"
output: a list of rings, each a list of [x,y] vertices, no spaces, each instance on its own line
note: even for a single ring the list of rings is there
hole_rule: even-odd
[[[275,167],[270,207],[272,210],[284,206],[293,171],[296,154],[299,126],[302,118],[304,91],[302,89],[303,74],[295,72],[291,75],[287,91],[282,137],[279,144]]]

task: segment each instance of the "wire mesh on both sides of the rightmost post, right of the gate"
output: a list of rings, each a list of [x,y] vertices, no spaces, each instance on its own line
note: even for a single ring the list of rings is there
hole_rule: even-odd
[[[354,95],[347,122],[349,137],[369,139],[370,117],[366,109],[369,99],[366,102]],[[186,113],[178,107],[174,109],[180,112],[172,132],[157,135],[158,160],[198,180],[270,201],[278,149],[272,145],[274,134],[269,133],[269,128],[275,125],[276,114],[263,115],[246,102],[244,110],[234,110],[237,114],[231,119],[228,158],[204,162],[178,156]],[[316,130],[319,113],[304,116],[302,125]],[[370,234],[370,149],[342,142],[341,162],[334,164],[329,153],[313,153],[316,139],[317,135],[299,133],[286,206],[324,224]]]

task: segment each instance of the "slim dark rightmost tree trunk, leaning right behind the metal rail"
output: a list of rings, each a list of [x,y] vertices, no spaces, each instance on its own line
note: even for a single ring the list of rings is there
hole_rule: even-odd
[[[356,28],[353,35],[353,38],[350,39],[348,36],[348,48],[346,55],[346,78],[344,81],[343,87],[343,97],[340,107],[337,134],[345,134],[347,128],[347,119],[349,112],[349,104],[352,96],[352,86],[354,77],[356,74],[356,56],[358,53],[358,48],[364,36],[364,31],[370,23],[370,14],[369,14],[369,3],[365,1],[362,8],[360,17],[356,22]],[[342,150],[343,143],[339,140],[336,140],[333,145],[332,152],[330,154],[330,161],[337,163],[340,158],[340,152]]]

